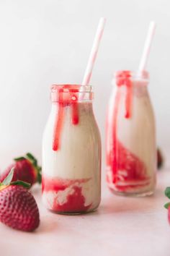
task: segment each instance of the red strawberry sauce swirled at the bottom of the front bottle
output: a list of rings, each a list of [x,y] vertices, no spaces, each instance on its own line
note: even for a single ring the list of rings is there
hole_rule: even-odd
[[[83,213],[91,207],[85,205],[85,197],[82,195],[81,184],[90,179],[42,179],[42,193],[54,192],[53,206],[51,210],[63,213]],[[48,196],[47,196],[48,197]],[[64,197],[64,202],[62,198]]]

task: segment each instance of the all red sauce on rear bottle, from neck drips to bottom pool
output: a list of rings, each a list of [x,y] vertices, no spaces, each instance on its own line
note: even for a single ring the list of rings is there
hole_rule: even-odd
[[[125,98],[125,118],[132,117],[133,85],[130,80],[129,71],[117,73],[117,86],[126,86]],[[107,126],[111,127],[112,143],[109,152],[107,152],[107,166],[112,170],[112,178],[107,175],[107,182],[115,185],[117,190],[126,191],[134,187],[143,187],[149,184],[149,177],[146,176],[146,166],[143,161],[130,150],[126,149],[117,139],[117,117],[120,106],[121,91],[118,89],[115,96],[115,105],[111,120],[108,120]],[[109,131],[107,127],[107,132]]]

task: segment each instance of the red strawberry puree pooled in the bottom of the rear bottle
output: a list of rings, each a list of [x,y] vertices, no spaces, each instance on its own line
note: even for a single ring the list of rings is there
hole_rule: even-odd
[[[130,150],[127,150],[121,142],[117,141],[117,158],[113,159],[112,150],[107,155],[107,165],[112,171],[107,171],[107,182],[110,189],[115,188],[126,192],[150,184],[150,177],[146,174],[146,166],[143,161]]]

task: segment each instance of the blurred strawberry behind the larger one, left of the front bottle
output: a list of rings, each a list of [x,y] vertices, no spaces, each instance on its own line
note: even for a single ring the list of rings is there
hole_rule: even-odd
[[[31,153],[27,153],[25,157],[14,158],[14,163],[10,165],[0,176],[0,182],[2,182],[12,168],[14,168],[14,176],[12,182],[21,180],[35,184],[35,182],[41,183],[41,167],[37,165],[37,160]]]

